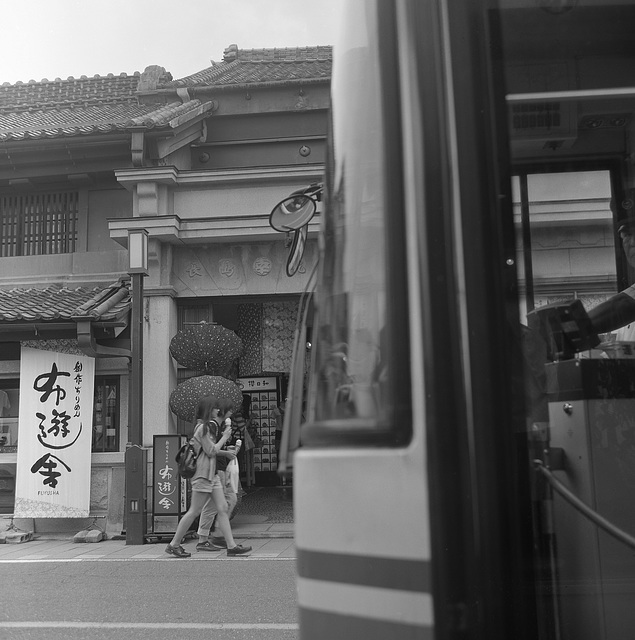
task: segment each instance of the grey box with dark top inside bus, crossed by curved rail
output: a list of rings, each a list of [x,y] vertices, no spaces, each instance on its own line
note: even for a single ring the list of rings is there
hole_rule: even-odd
[[[546,366],[555,477],[635,536],[635,359]],[[562,640],[623,640],[635,629],[635,550],[553,495]]]

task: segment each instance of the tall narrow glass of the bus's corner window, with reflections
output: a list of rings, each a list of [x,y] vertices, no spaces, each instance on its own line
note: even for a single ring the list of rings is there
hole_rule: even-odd
[[[334,109],[331,123],[328,215],[322,221],[315,298],[319,333],[314,336],[315,375],[309,393],[312,426],[303,437],[305,445],[313,441],[316,426],[318,431],[326,428],[321,433],[331,442],[342,441],[344,434],[357,442],[383,434],[384,441],[396,443],[408,429],[407,419],[396,420],[394,412],[395,394],[408,394],[408,385],[395,391],[399,376],[391,365],[407,358],[406,345],[388,342],[389,333],[395,333],[389,325],[399,322],[397,315],[405,318],[407,309],[405,302],[401,309],[391,309],[392,299],[405,300],[395,295],[395,287],[403,285],[389,279],[387,269],[389,261],[391,273],[399,266],[403,239],[399,196],[392,193],[398,181],[390,183],[385,165],[393,126],[385,112],[391,97],[379,86],[382,65],[395,53],[375,40],[374,4],[352,6],[359,12],[360,29],[347,40],[332,78],[332,93],[346,108]],[[391,45],[394,49],[395,43]],[[339,153],[344,149],[345,157]],[[406,332],[401,335],[405,341]],[[405,372],[407,359],[402,365]]]

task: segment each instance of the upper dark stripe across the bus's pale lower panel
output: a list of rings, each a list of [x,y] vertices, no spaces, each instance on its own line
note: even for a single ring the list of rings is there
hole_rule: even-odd
[[[431,591],[430,562],[298,549],[298,575],[403,591]]]

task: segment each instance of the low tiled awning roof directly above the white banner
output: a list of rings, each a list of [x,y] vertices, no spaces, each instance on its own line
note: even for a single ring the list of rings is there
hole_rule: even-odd
[[[121,319],[129,308],[130,292],[123,282],[93,289],[0,289],[0,322],[64,322],[76,317],[107,322]]]

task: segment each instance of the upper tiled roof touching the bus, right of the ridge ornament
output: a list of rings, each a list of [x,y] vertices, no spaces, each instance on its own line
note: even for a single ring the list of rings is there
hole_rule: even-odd
[[[297,47],[284,49],[225,49],[222,62],[179,80],[170,87],[231,87],[245,84],[328,81],[331,78],[333,48]]]

